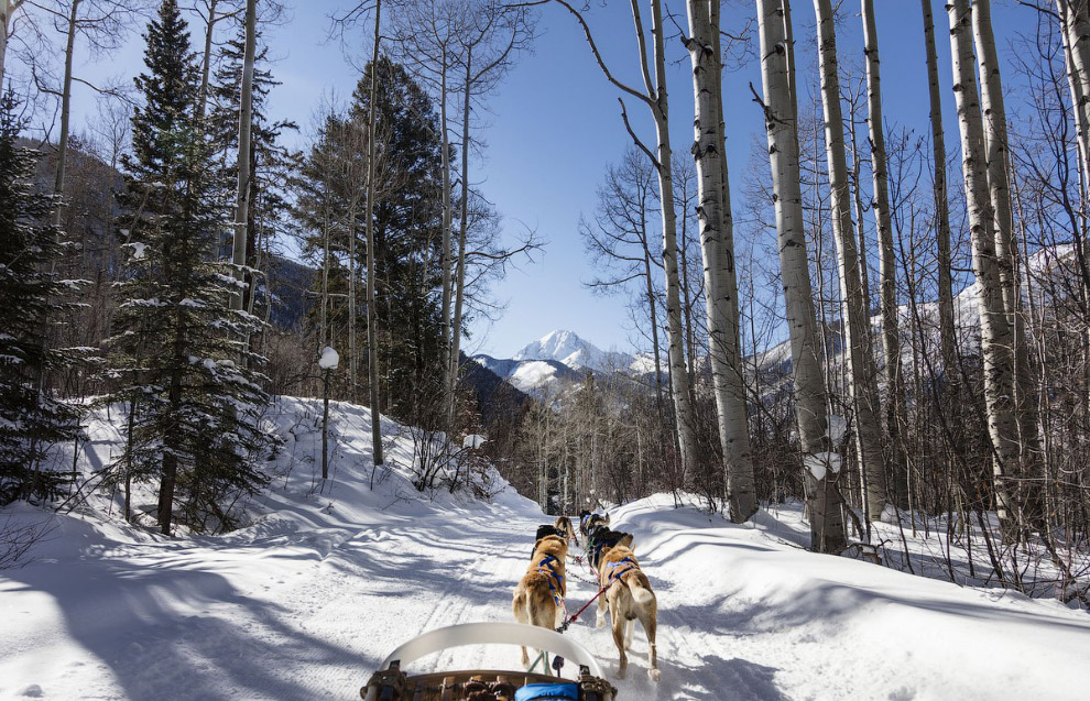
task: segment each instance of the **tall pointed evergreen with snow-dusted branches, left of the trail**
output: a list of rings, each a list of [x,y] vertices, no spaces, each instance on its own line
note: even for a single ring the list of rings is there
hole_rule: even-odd
[[[176,0],[163,1],[145,39],[148,72],[135,79],[144,105],[126,161],[129,261],[109,340],[120,383],[110,401],[130,408],[116,473],[127,483],[159,479],[165,534],[175,504],[192,529],[228,528],[233,517],[222,504],[265,480],[253,464],[265,440],[258,427],[265,395],[248,369],[260,359],[244,342],[260,324],[228,308],[238,283],[215,253],[227,215],[196,117],[200,76]]]

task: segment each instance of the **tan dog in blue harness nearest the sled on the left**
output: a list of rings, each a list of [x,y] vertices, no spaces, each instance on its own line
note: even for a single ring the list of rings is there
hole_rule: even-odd
[[[568,541],[560,536],[545,536],[534,544],[534,556],[526,573],[515,587],[511,609],[515,621],[555,631],[564,621],[564,558]],[[522,648],[522,664],[528,665],[526,648]]]

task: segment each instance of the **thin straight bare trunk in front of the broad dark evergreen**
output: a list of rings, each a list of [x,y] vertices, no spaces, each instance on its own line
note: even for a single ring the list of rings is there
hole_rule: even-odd
[[[251,0],[252,1],[252,0]],[[382,12],[382,0],[374,2],[374,46],[371,52],[371,97],[368,102],[368,127],[367,127],[367,358],[368,358],[368,385],[371,394],[371,454],[375,465],[383,463],[382,460],[382,416],[379,412],[379,346],[375,325],[379,320],[378,310],[374,308],[374,278],[375,278],[375,255],[374,255],[374,117],[378,109],[375,99],[379,91],[379,20]],[[352,232],[352,239],[356,236]]]

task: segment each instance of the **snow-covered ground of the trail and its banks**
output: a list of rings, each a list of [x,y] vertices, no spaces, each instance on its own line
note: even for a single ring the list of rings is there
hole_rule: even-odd
[[[435,627],[511,621],[545,517],[510,489],[491,503],[373,475],[366,409],[337,405],[334,472],[315,480],[317,402],[281,399],[287,438],[247,528],[167,539],[89,513],[58,516],[34,561],[0,572],[0,698],[359,698],[385,655]],[[108,452],[92,427],[97,460]],[[8,510],[11,522],[44,516]],[[663,678],[637,626],[622,701],[648,699],[1082,699],[1090,615],[959,588],[792,543],[796,518],[731,525],[655,496],[613,511],[658,596]],[[0,524],[3,514],[0,514]],[[568,607],[597,587],[569,565]],[[567,635],[613,673],[588,611]],[[461,648],[410,669],[516,668],[517,648]],[[570,668],[570,665],[569,665]],[[570,671],[570,669],[569,669]]]

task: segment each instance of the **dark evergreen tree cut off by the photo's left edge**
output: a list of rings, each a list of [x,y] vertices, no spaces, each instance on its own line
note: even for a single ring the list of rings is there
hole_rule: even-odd
[[[68,305],[54,273],[61,258],[56,202],[37,194],[36,152],[21,149],[10,91],[0,96],[0,505],[56,496],[63,478],[43,464],[50,446],[70,439],[77,412],[45,391],[47,371],[68,362],[46,329]]]

